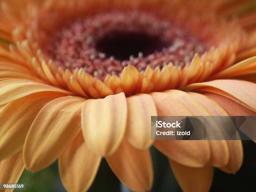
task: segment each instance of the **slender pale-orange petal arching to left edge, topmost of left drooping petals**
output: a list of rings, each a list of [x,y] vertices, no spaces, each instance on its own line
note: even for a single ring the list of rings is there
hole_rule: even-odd
[[[36,92],[59,92],[64,95],[72,93],[61,90],[47,84],[41,84],[28,80],[12,79],[0,82],[0,105],[4,105],[10,101],[31,95]]]

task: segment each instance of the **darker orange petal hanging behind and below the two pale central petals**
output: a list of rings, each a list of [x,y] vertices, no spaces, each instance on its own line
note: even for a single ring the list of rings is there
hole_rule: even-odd
[[[118,150],[107,157],[115,175],[133,191],[150,191],[153,168],[149,150],[141,151],[123,140]]]

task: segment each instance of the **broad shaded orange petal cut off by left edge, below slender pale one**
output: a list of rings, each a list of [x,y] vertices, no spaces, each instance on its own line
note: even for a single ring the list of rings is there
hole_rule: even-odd
[[[20,151],[39,110],[49,101],[61,96],[63,95],[58,93],[36,93],[5,106],[0,113],[0,159]]]

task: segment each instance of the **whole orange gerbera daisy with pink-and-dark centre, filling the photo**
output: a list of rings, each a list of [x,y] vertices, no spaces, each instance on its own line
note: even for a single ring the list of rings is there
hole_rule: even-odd
[[[59,159],[64,187],[86,191],[105,158],[148,191],[152,145],[184,191],[236,173],[241,141],[151,141],[150,117],[256,115],[252,3],[1,0],[0,183]]]

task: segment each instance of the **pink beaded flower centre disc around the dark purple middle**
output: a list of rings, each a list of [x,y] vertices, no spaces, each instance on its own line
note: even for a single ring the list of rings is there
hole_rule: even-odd
[[[207,43],[169,18],[143,11],[109,11],[79,18],[49,37],[44,53],[57,67],[85,72],[103,80],[132,65],[183,67],[207,50]]]

